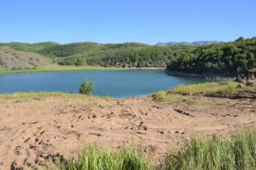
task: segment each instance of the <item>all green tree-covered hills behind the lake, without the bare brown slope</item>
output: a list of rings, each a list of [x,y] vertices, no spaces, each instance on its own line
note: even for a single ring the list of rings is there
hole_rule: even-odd
[[[0,45],[37,53],[60,65],[167,67],[168,71],[227,76],[256,68],[256,37],[200,46],[155,46],[136,42],[9,42]]]

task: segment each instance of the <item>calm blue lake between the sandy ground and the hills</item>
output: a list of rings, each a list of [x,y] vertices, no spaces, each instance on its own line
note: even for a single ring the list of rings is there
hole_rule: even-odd
[[[163,70],[80,71],[0,75],[0,93],[68,92],[78,93],[84,79],[93,82],[96,95],[117,98],[167,91],[178,84],[204,82],[204,79],[168,76]]]

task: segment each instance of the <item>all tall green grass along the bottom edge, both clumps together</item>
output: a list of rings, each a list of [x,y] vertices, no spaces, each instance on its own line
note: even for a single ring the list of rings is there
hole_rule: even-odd
[[[64,170],[240,170],[256,168],[256,131],[245,128],[232,136],[192,137],[165,159],[154,162],[135,147],[109,150],[100,146],[84,148],[67,161],[48,169]],[[52,168],[54,167],[54,168]],[[47,168],[46,168],[47,169]]]

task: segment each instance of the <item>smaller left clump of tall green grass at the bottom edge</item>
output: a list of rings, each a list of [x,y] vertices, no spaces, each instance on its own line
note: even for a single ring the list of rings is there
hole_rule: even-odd
[[[108,151],[101,147],[90,146],[78,158],[72,158],[60,166],[65,170],[148,170],[151,163],[133,147],[119,151]]]

